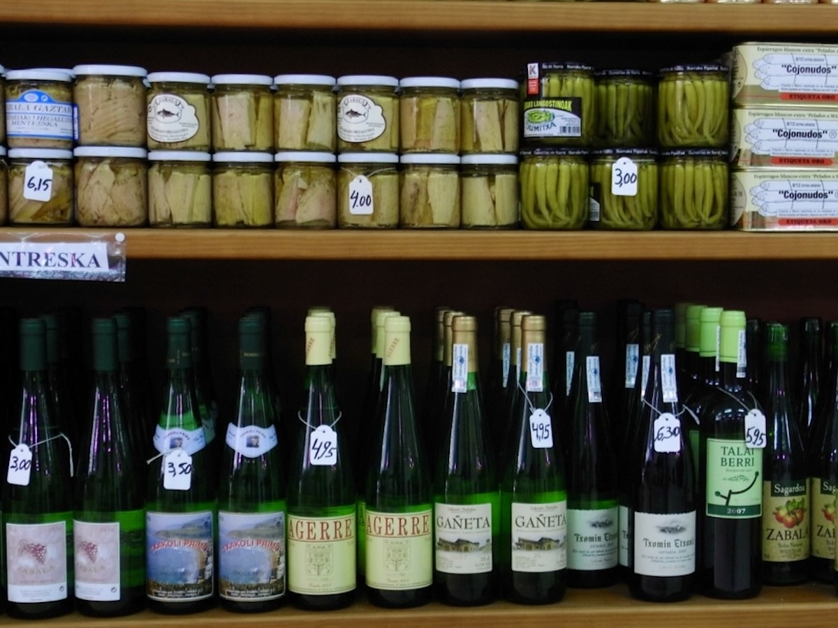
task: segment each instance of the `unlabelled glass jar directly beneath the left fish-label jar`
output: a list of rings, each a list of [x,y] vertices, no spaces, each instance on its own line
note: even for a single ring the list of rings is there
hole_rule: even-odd
[[[152,227],[212,225],[209,152],[148,153],[148,224]]]

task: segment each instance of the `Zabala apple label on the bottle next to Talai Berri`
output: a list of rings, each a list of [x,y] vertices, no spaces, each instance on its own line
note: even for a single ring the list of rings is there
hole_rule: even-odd
[[[763,560],[809,558],[809,480],[763,481]]]

